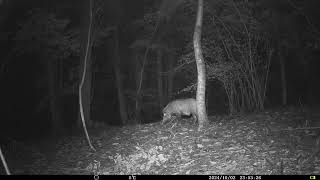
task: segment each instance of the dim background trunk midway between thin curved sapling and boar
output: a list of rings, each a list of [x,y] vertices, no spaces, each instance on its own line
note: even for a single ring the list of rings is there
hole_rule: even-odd
[[[115,73],[115,83],[118,90],[118,101],[119,101],[119,111],[120,111],[120,118],[123,125],[127,123],[127,109],[126,109],[126,99],[123,95],[122,89],[122,79],[121,79],[121,72],[120,72],[120,53],[119,53],[119,36],[118,36],[118,28],[115,28],[114,34],[114,60],[113,60],[113,67]]]

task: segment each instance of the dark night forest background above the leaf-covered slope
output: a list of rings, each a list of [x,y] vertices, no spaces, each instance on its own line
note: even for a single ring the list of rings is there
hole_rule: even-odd
[[[77,88],[90,22],[88,2],[1,1],[2,133],[39,137],[69,132],[79,124]],[[195,97],[197,1],[93,2],[84,103],[89,126],[157,122],[171,100]],[[202,48],[209,116],[319,105],[319,4],[205,1]]]

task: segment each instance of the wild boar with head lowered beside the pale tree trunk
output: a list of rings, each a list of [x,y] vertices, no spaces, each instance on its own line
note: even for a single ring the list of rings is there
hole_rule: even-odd
[[[171,120],[172,117],[181,117],[181,116],[191,116],[194,119],[194,122],[197,121],[197,103],[193,98],[188,99],[177,99],[171,101],[165,108],[162,110],[163,118],[162,124]]]

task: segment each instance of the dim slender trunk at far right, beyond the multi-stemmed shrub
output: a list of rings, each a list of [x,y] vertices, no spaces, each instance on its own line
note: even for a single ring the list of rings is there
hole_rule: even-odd
[[[278,48],[278,55],[280,61],[280,74],[281,74],[281,91],[282,91],[282,105],[287,105],[287,80],[286,80],[286,69],[285,69],[285,61],[281,54],[281,48]]]

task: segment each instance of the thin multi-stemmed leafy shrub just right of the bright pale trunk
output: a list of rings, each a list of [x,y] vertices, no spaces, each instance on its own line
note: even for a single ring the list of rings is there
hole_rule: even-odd
[[[207,78],[219,80],[224,86],[231,113],[263,108],[270,47],[253,13],[255,4],[230,0],[205,7],[202,49]],[[191,39],[179,59],[179,66],[190,61],[194,61]],[[196,69],[193,70],[195,74]]]

